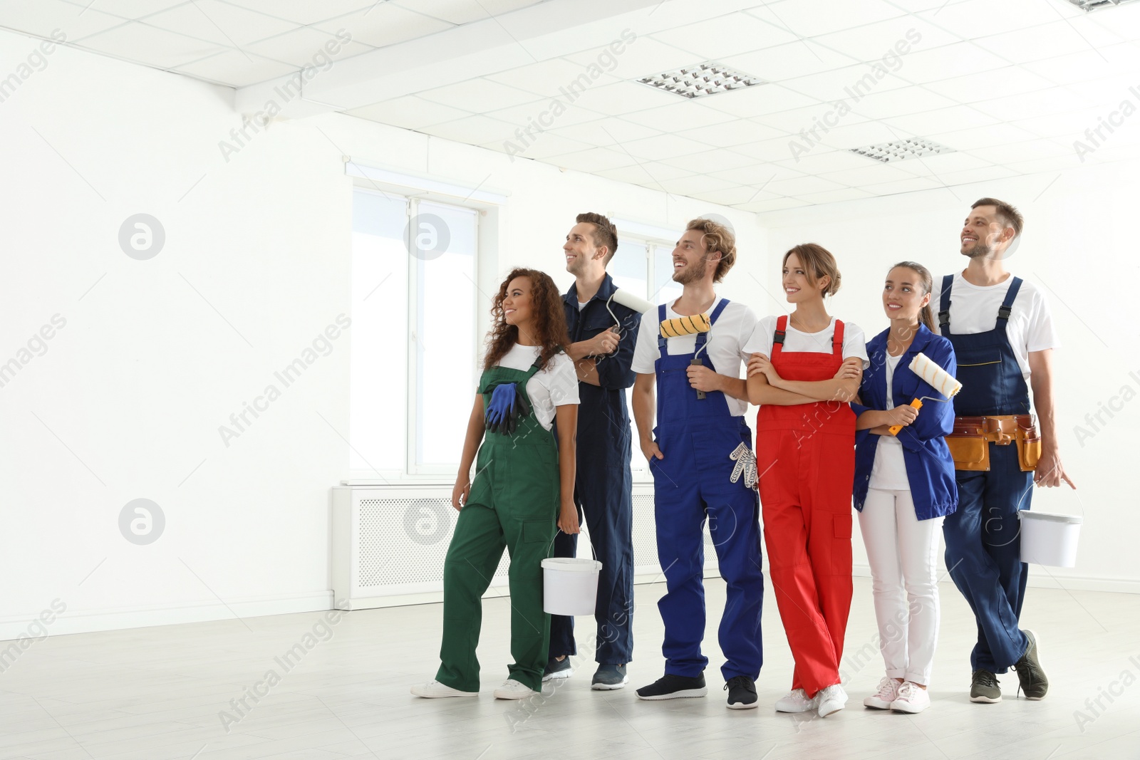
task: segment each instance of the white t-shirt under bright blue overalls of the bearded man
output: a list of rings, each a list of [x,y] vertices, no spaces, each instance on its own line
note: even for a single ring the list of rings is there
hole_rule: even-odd
[[[717,304],[722,299],[717,299],[709,307],[708,314],[712,316]],[[674,302],[676,303],[676,302]],[[666,319],[676,319],[678,314],[673,310],[673,304],[666,309]],[[652,375],[654,365],[661,356],[657,349],[657,338],[661,334],[661,320],[658,318],[658,310],[651,309],[642,314],[641,329],[637,330],[637,345],[634,346],[633,370],[642,375]],[[748,353],[743,350],[744,342],[752,334],[756,326],[756,314],[742,303],[731,301],[717,317],[716,324],[709,330],[705,351],[701,359],[706,363],[711,361],[712,369],[727,377],[740,377],[741,362],[748,361]],[[695,335],[682,335],[681,337],[666,338],[665,350],[669,356],[678,353],[692,353],[697,350]],[[706,358],[707,354],[707,358]],[[741,417],[748,410],[748,402],[734,399],[727,393],[724,400],[728,402],[728,412],[733,417]]]

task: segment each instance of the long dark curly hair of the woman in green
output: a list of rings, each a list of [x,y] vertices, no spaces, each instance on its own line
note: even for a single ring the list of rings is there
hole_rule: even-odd
[[[546,365],[554,354],[570,344],[570,335],[567,332],[567,316],[562,302],[562,294],[551,276],[537,269],[512,269],[499,292],[491,303],[491,320],[494,325],[487,333],[487,356],[483,357],[483,367],[490,368],[506,356],[506,352],[519,342],[519,328],[506,324],[506,316],[503,313],[503,300],[506,299],[506,288],[511,280],[516,277],[526,277],[530,280],[530,311],[531,326],[536,335],[535,343],[542,349],[538,353],[538,368],[546,369]]]

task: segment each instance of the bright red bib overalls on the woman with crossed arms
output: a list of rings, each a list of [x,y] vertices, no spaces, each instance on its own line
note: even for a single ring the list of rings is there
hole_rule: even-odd
[[[844,324],[836,320],[831,353],[784,353],[787,328],[788,317],[780,317],[771,357],[780,377],[834,377],[844,360]],[[855,414],[838,400],[763,404],[756,459],[768,575],[796,659],[792,688],[812,697],[839,683],[850,612]]]

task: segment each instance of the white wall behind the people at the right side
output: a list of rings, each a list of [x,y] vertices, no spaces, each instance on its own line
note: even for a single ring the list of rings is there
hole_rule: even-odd
[[[1124,403],[1112,419],[1102,416],[1107,424],[1091,438],[1074,430],[1083,425],[1093,432],[1084,416],[1123,386],[1140,395],[1132,229],[1140,209],[1138,170],[1135,162],[1105,164],[760,216],[772,256],[808,240],[836,254],[844,280],[830,310],[873,336],[887,326],[881,288],[893,263],[911,259],[935,277],[959,271],[966,259],[958,236],[970,204],[992,196],[1021,210],[1025,232],[1008,268],[1042,286],[1052,309],[1062,344],[1053,352],[1061,460],[1078,488],[1077,493],[1067,487],[1037,489],[1033,508],[1068,514],[1083,508],[1085,517],[1077,566],[1034,565],[1034,583],[1140,591],[1133,554],[1140,513],[1130,456],[1140,400]],[[856,564],[865,564],[865,556],[856,531]]]

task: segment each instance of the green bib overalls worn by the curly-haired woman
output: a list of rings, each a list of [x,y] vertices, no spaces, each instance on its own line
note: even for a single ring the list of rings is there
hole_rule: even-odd
[[[491,367],[479,381],[484,409],[503,383],[518,383],[526,395],[527,371]],[[529,401],[529,397],[527,398]],[[534,407],[534,404],[531,404]],[[482,624],[481,598],[498,567],[505,546],[511,553],[510,678],[536,692],[543,669],[551,616],[543,612],[542,561],[551,556],[559,513],[559,450],[551,431],[534,408],[519,420],[513,435],[488,431],[479,447],[475,481],[459,510],[443,562],[443,643],[435,680],[463,692],[479,690],[475,646]]]

